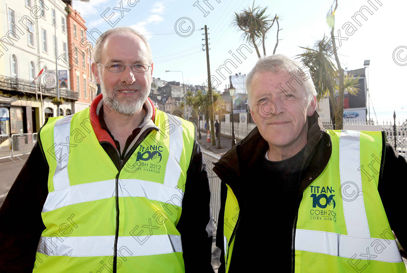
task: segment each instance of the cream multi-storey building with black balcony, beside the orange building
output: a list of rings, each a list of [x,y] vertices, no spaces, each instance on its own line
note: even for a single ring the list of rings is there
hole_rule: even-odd
[[[65,7],[61,0],[0,2],[1,134],[35,133],[46,117],[72,113],[78,95],[63,60]]]

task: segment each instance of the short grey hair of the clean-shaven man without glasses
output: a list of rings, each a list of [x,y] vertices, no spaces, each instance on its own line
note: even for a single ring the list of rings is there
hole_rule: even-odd
[[[284,71],[290,75],[302,75],[304,76],[305,65],[301,66],[301,63],[294,61],[282,54],[271,55],[268,57],[261,58],[254,65],[253,69],[246,76],[246,90],[248,103],[251,107],[251,80],[256,72],[273,72],[277,73],[278,71]],[[313,100],[313,97],[316,96],[315,86],[311,76],[308,76],[304,81],[304,88],[307,92],[308,102]]]

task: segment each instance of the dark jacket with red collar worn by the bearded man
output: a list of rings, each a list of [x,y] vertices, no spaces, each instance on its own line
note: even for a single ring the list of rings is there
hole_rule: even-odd
[[[98,112],[103,104],[101,99],[102,96],[99,95],[92,102],[90,119],[95,126],[94,133],[99,144],[119,169],[124,166],[129,156],[121,159],[110,134],[100,126]],[[148,120],[126,155],[131,155],[151,130],[158,130],[154,125],[154,105],[148,99],[145,106],[148,109]],[[38,241],[45,229],[41,211],[48,194],[49,167],[44,156],[46,148],[41,147],[38,142],[35,144],[0,208],[0,272],[32,272]],[[196,272],[196,268],[213,272],[210,188],[206,165],[197,141],[188,167],[185,187],[182,214],[177,229],[181,234],[186,272]]]

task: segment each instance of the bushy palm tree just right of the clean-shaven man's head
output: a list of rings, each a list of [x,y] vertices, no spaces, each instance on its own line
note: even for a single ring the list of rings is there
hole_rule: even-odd
[[[313,48],[302,47],[304,53],[298,54],[302,57],[302,61],[310,68],[310,73],[317,91],[316,99],[320,101],[325,96],[329,96],[333,112],[334,112],[334,128],[343,128],[343,112],[344,112],[344,91],[355,95],[358,92],[359,76],[344,76],[344,71],[340,72],[333,62],[329,52],[332,50],[332,45],[327,37],[317,42]],[[334,47],[335,48],[335,47]],[[338,98],[336,98],[335,90],[338,90]]]

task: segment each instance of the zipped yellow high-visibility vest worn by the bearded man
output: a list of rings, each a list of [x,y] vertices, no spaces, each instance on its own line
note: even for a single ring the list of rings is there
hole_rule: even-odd
[[[89,114],[49,119],[40,131],[49,176],[34,272],[113,272],[115,260],[118,273],[184,272],[176,225],[194,125],[157,110],[159,131],[118,171]]]

